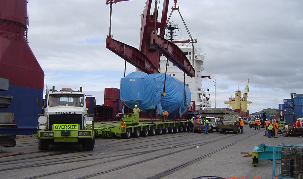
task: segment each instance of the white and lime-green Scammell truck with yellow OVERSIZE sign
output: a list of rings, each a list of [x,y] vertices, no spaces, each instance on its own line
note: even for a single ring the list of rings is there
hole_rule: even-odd
[[[83,150],[95,145],[93,114],[87,114],[82,88],[73,91],[62,88],[48,90],[46,86],[45,114],[38,118],[38,149],[47,150],[49,144],[79,143]]]

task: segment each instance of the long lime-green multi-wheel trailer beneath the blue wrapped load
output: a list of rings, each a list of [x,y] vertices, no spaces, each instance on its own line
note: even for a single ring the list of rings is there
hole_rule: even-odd
[[[94,131],[97,137],[123,137],[130,138],[161,135],[189,131],[189,121],[156,121],[139,120],[139,114],[123,114],[123,120],[115,122],[95,122]]]

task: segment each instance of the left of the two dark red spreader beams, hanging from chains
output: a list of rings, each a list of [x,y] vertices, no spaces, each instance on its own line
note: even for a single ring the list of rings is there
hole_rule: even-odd
[[[114,40],[111,36],[106,38],[106,48],[126,60],[128,63],[134,65],[136,68],[147,74],[160,73],[154,64],[140,52],[137,48]]]

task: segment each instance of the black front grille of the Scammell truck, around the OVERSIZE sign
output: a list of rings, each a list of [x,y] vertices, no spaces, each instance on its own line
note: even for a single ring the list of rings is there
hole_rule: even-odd
[[[79,124],[83,129],[82,114],[52,114],[49,115],[49,129],[53,124]]]

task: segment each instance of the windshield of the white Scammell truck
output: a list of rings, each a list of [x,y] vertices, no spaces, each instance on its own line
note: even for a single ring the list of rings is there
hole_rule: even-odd
[[[84,106],[84,95],[50,94],[49,106]]]

